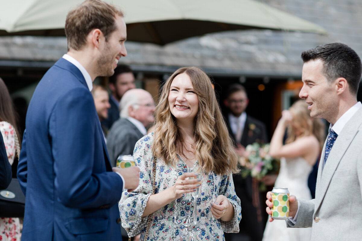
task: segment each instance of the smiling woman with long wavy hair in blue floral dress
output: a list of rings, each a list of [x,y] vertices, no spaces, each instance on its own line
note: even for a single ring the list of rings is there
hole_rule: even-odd
[[[136,143],[134,159],[140,183],[133,192],[125,191],[119,204],[130,236],[141,232],[141,239],[186,240],[196,232],[198,240],[224,240],[223,232],[239,232],[240,199],[232,180],[237,158],[211,80],[201,69],[180,68],[168,78],[156,106],[154,132]],[[188,167],[197,165],[203,167],[202,178],[191,180],[195,174]],[[190,232],[190,193],[196,188],[201,188],[201,225]]]

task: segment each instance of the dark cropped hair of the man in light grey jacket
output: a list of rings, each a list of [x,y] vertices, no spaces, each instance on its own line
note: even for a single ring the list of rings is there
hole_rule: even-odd
[[[320,59],[323,61],[323,73],[329,82],[345,78],[351,94],[357,95],[361,81],[362,65],[357,53],[346,44],[329,43],[317,46],[302,53],[303,62]]]

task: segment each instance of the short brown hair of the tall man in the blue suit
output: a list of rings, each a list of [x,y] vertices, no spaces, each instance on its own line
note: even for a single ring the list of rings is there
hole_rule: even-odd
[[[66,36],[68,51],[81,50],[84,47],[87,35],[93,29],[100,29],[108,37],[117,29],[115,17],[123,17],[120,9],[100,0],[87,0],[71,10],[66,19]]]

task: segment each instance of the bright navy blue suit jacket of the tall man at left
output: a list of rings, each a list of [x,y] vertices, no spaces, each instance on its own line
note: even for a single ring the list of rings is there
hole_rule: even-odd
[[[26,198],[22,240],[121,240],[122,178],[111,171],[85,79],[63,58],[29,103],[17,176]]]

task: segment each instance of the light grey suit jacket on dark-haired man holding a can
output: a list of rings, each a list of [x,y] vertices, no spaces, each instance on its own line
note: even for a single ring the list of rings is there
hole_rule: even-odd
[[[362,238],[362,108],[338,135],[323,168],[318,168],[315,199],[300,200],[294,227],[312,227],[311,240]],[[322,170],[323,169],[323,170]],[[288,220],[287,225],[293,226]]]

